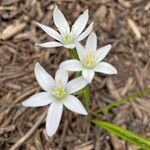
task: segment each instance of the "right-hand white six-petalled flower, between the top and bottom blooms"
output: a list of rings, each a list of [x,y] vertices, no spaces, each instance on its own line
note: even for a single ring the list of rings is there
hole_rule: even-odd
[[[82,71],[82,76],[90,83],[95,72],[105,74],[117,74],[117,70],[109,63],[101,61],[108,54],[111,45],[108,44],[97,50],[97,37],[91,33],[87,39],[86,46],[76,43],[79,60],[71,59],[60,64],[61,68],[68,71]]]

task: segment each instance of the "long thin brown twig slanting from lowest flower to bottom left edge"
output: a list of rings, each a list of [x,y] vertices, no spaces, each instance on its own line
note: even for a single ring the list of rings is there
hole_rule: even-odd
[[[38,128],[38,126],[42,123],[42,121],[46,117],[46,113],[47,110],[43,112],[43,114],[40,116],[39,120],[34,124],[34,126],[19,141],[17,141],[10,148],[10,150],[16,150],[17,148],[19,148],[34,133],[34,131]]]

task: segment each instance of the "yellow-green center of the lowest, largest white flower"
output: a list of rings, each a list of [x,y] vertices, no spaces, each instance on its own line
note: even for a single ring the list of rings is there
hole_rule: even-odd
[[[57,98],[62,98],[66,95],[66,91],[63,87],[58,86],[54,89],[53,91],[54,96],[56,96]]]

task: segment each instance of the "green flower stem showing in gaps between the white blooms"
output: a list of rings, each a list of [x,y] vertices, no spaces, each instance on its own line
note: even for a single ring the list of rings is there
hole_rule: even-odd
[[[77,54],[77,50],[74,49],[69,49],[69,54],[70,54],[70,58],[72,59],[79,59],[78,54]],[[81,72],[76,72],[76,77],[81,76]],[[90,101],[90,88],[88,85],[86,85],[82,90],[82,98],[83,98],[83,102],[84,105],[87,109],[87,111],[89,110],[89,101]]]

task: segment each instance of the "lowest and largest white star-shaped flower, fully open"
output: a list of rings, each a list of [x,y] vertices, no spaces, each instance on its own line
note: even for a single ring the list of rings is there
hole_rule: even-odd
[[[68,72],[64,69],[58,69],[54,80],[39,63],[36,63],[34,71],[39,85],[45,92],[39,92],[31,96],[22,105],[40,107],[51,104],[46,119],[46,131],[49,136],[57,131],[63,105],[73,112],[87,115],[87,111],[81,102],[72,95],[86,86],[87,83],[83,77],[68,82]]]

